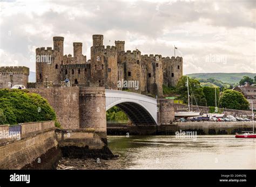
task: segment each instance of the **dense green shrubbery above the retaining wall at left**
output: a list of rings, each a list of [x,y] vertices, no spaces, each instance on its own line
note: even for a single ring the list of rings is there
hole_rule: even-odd
[[[0,90],[2,124],[15,125],[34,121],[56,120],[55,111],[46,99],[25,90]]]

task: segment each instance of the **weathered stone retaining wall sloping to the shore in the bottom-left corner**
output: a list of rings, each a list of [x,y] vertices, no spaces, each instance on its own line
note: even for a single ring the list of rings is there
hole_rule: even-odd
[[[55,169],[60,158],[55,128],[26,133],[20,140],[0,140],[0,169]]]

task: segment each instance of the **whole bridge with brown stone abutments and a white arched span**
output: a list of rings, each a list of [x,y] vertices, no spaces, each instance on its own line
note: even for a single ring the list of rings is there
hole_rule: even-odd
[[[28,89],[48,100],[65,129],[93,128],[106,134],[106,111],[123,110],[136,126],[160,126],[174,120],[172,99],[154,99],[138,93],[101,87]]]

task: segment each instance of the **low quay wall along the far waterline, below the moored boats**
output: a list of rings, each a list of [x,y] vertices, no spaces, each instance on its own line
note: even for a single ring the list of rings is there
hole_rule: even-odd
[[[107,124],[107,135],[174,135],[177,131],[197,131],[198,135],[235,134],[252,131],[252,121],[228,122],[174,122],[158,127],[137,127],[124,124]],[[254,128],[255,131],[255,128]]]

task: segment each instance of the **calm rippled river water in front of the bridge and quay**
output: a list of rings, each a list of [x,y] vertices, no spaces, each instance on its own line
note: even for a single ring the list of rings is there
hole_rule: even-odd
[[[107,136],[113,160],[63,158],[57,169],[256,169],[256,139]]]

